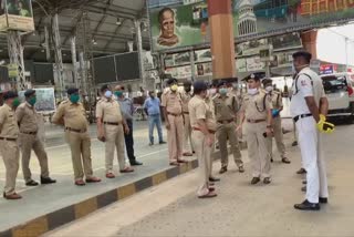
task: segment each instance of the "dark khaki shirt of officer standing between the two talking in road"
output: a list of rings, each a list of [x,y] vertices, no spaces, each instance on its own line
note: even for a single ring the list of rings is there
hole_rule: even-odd
[[[218,94],[214,99],[214,106],[217,121],[221,122],[236,118],[238,104],[232,94],[227,94],[226,97]]]

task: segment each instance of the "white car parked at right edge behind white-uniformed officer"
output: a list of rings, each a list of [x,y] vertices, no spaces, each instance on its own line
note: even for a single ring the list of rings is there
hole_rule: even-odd
[[[354,122],[354,74],[335,73],[321,75],[332,117],[348,117]]]

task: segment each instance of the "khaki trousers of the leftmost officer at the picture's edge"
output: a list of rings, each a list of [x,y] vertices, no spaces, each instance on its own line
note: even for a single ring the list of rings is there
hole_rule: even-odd
[[[20,151],[17,142],[0,141],[0,152],[6,167],[4,194],[14,193],[15,178],[19,172]]]

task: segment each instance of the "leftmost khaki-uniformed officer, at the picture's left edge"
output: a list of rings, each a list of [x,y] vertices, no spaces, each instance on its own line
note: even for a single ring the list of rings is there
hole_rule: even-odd
[[[15,92],[9,91],[3,95],[4,103],[0,107],[0,152],[6,167],[6,184],[3,197],[7,199],[22,198],[15,193],[15,178],[19,172],[20,152],[17,144],[19,126],[14,109],[20,101]]]

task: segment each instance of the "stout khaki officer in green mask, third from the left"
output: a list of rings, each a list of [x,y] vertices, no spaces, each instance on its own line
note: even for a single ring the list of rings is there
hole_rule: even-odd
[[[87,131],[88,121],[85,109],[79,102],[79,90],[69,89],[67,96],[69,99],[59,105],[52,122],[65,126],[65,140],[71,148],[75,185],[85,185],[84,175],[86,183],[101,182],[100,178],[93,176],[92,172],[91,137]]]

